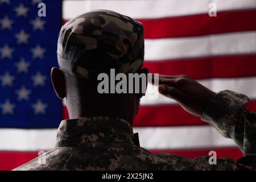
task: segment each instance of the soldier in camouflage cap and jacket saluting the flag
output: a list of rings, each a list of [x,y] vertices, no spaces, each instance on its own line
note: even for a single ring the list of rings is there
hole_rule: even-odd
[[[151,154],[139,147],[133,118],[143,93],[100,94],[97,75],[147,73],[142,69],[144,38],[141,23],[109,10],[96,10],[69,20],[60,30],[59,68],[51,77],[57,96],[67,99],[69,117],[57,130],[56,147],[46,164],[31,160],[14,170],[241,170],[255,169],[255,113],[243,106],[243,94],[214,93],[186,76],[160,76],[159,92],[175,99],[189,113],[233,138],[245,156],[187,159]]]

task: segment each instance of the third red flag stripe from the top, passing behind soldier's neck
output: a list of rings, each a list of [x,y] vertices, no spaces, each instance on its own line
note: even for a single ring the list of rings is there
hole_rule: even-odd
[[[247,109],[255,110],[256,101],[251,101]],[[67,107],[63,108],[63,118],[68,119]],[[187,113],[179,105],[140,106],[133,126],[193,126],[208,125],[199,117]]]

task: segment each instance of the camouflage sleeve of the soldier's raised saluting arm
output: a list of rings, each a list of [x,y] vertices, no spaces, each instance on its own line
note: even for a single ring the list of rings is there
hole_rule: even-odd
[[[219,92],[208,103],[202,120],[227,138],[232,138],[243,154],[256,154],[256,114],[245,109],[249,98],[229,90]]]

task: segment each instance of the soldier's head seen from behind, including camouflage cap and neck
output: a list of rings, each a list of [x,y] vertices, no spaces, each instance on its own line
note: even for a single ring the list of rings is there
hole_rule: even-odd
[[[148,72],[142,69],[141,23],[109,10],[79,15],[61,28],[57,59],[60,69],[52,68],[52,83],[57,96],[66,98],[70,118],[104,115],[132,122],[143,93],[110,93],[111,76]],[[101,73],[109,76],[109,93],[99,93]]]

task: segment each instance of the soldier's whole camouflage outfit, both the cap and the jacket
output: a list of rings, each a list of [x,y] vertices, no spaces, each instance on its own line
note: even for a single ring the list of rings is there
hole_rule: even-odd
[[[86,53],[95,49],[106,54],[90,61]],[[88,80],[99,72],[108,73],[110,68],[121,73],[137,72],[144,60],[143,26],[113,11],[90,11],[61,28],[57,55],[63,71]],[[243,106],[247,100],[242,94],[220,92],[209,102],[202,117],[222,135],[236,141],[245,153],[237,163],[218,159],[217,165],[209,165],[209,156],[187,159],[172,154],[154,155],[139,147],[137,135],[125,120],[86,117],[62,121],[56,147],[15,170],[253,169],[256,114]],[[46,158],[46,164],[38,163],[42,157]]]

